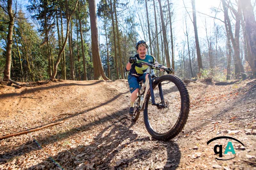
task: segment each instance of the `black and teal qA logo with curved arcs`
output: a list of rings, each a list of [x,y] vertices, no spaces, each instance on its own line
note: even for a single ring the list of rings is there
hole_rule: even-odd
[[[216,138],[212,138],[207,142],[207,145],[209,145],[209,143],[211,143],[212,141],[218,140],[218,139],[232,139],[232,140],[235,140],[235,141],[239,142],[240,144],[242,144],[244,146],[244,144],[242,142],[240,142],[239,140],[237,140],[235,138],[232,138],[232,137],[228,137],[228,136],[219,136],[219,137],[216,137]],[[214,151],[214,153],[219,154],[219,157],[222,158],[222,145],[215,145],[214,148],[213,148],[213,151]],[[236,154],[236,152],[234,150],[234,147],[233,147],[233,144],[230,141],[228,142],[228,144],[226,146],[224,154],[228,154],[228,152],[231,152],[232,154]],[[233,157],[233,158],[235,158],[235,157]],[[218,159],[218,160],[233,159],[233,158],[230,158],[230,159],[220,159],[220,158],[216,158],[216,159]]]

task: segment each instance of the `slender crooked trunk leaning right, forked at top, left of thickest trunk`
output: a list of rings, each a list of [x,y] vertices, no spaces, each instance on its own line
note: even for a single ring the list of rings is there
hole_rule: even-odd
[[[70,20],[71,20],[71,16],[74,14],[75,10],[76,10],[76,5],[78,3],[78,0],[76,0],[76,4],[75,4],[75,7],[74,7],[74,10],[71,12],[70,14],[70,17],[69,17],[69,14],[68,14],[68,0],[65,0],[65,4],[66,4],[66,15],[67,15],[67,32],[66,32],[66,38],[65,38],[65,41],[62,45],[62,48],[60,49],[59,53],[58,53],[58,58],[54,64],[54,71],[53,71],[53,74],[52,74],[52,79],[55,79],[55,76],[57,74],[57,68],[58,68],[58,65],[60,63],[60,57],[61,57],[61,53],[64,51],[64,48],[67,44],[67,41],[68,41],[68,37],[69,37],[69,23],[70,23]],[[71,60],[72,61],[72,60]],[[74,78],[74,77],[73,77]],[[73,80],[73,79],[72,79]]]

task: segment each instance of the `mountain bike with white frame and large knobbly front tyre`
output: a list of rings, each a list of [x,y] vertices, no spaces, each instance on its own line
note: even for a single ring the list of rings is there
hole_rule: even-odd
[[[133,121],[144,110],[144,123],[148,133],[157,140],[169,140],[180,133],[188,119],[189,95],[185,83],[173,74],[157,77],[151,69],[167,68],[140,62],[149,66],[148,78],[140,89],[134,104]]]

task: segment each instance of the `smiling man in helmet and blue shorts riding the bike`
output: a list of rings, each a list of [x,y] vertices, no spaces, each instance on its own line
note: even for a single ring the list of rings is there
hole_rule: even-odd
[[[134,55],[133,57],[130,57],[129,62],[126,64],[126,67],[125,67],[125,71],[130,71],[128,75],[128,83],[130,87],[130,92],[132,93],[131,105],[129,110],[130,116],[133,116],[134,103],[135,103],[135,100],[137,99],[139,88],[140,88],[139,82],[141,80],[145,82],[146,79],[148,78],[148,73],[149,73],[148,66],[140,65],[137,61],[140,60],[142,62],[147,62],[149,64],[154,63],[156,64],[156,66],[164,67],[156,61],[155,57],[147,54],[148,43],[146,41],[144,40],[138,41],[136,44],[136,50],[138,54]],[[164,67],[164,68],[167,68],[167,67]],[[160,71],[163,71],[163,70],[161,69]],[[173,69],[167,68],[166,72],[168,74],[172,73]],[[151,73],[154,74],[154,70],[153,72],[151,71]]]

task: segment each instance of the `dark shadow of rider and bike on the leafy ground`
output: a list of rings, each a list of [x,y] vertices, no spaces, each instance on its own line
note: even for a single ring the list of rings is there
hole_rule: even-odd
[[[150,138],[139,138],[138,134],[131,130],[134,123],[130,122],[128,117],[113,120],[93,138],[89,145],[84,142],[84,145],[59,152],[54,157],[47,155],[47,159],[28,169],[123,169],[133,164],[138,164],[138,167],[141,161],[147,167],[152,167],[153,160],[158,162],[155,153],[157,152],[158,156],[161,153],[158,149],[142,148],[137,144],[143,141],[148,143]],[[177,144],[172,141],[154,139],[151,143],[164,146],[160,148],[167,153],[167,163],[164,169],[175,169],[179,165],[180,151]],[[151,160],[147,159],[148,157],[151,157]]]

